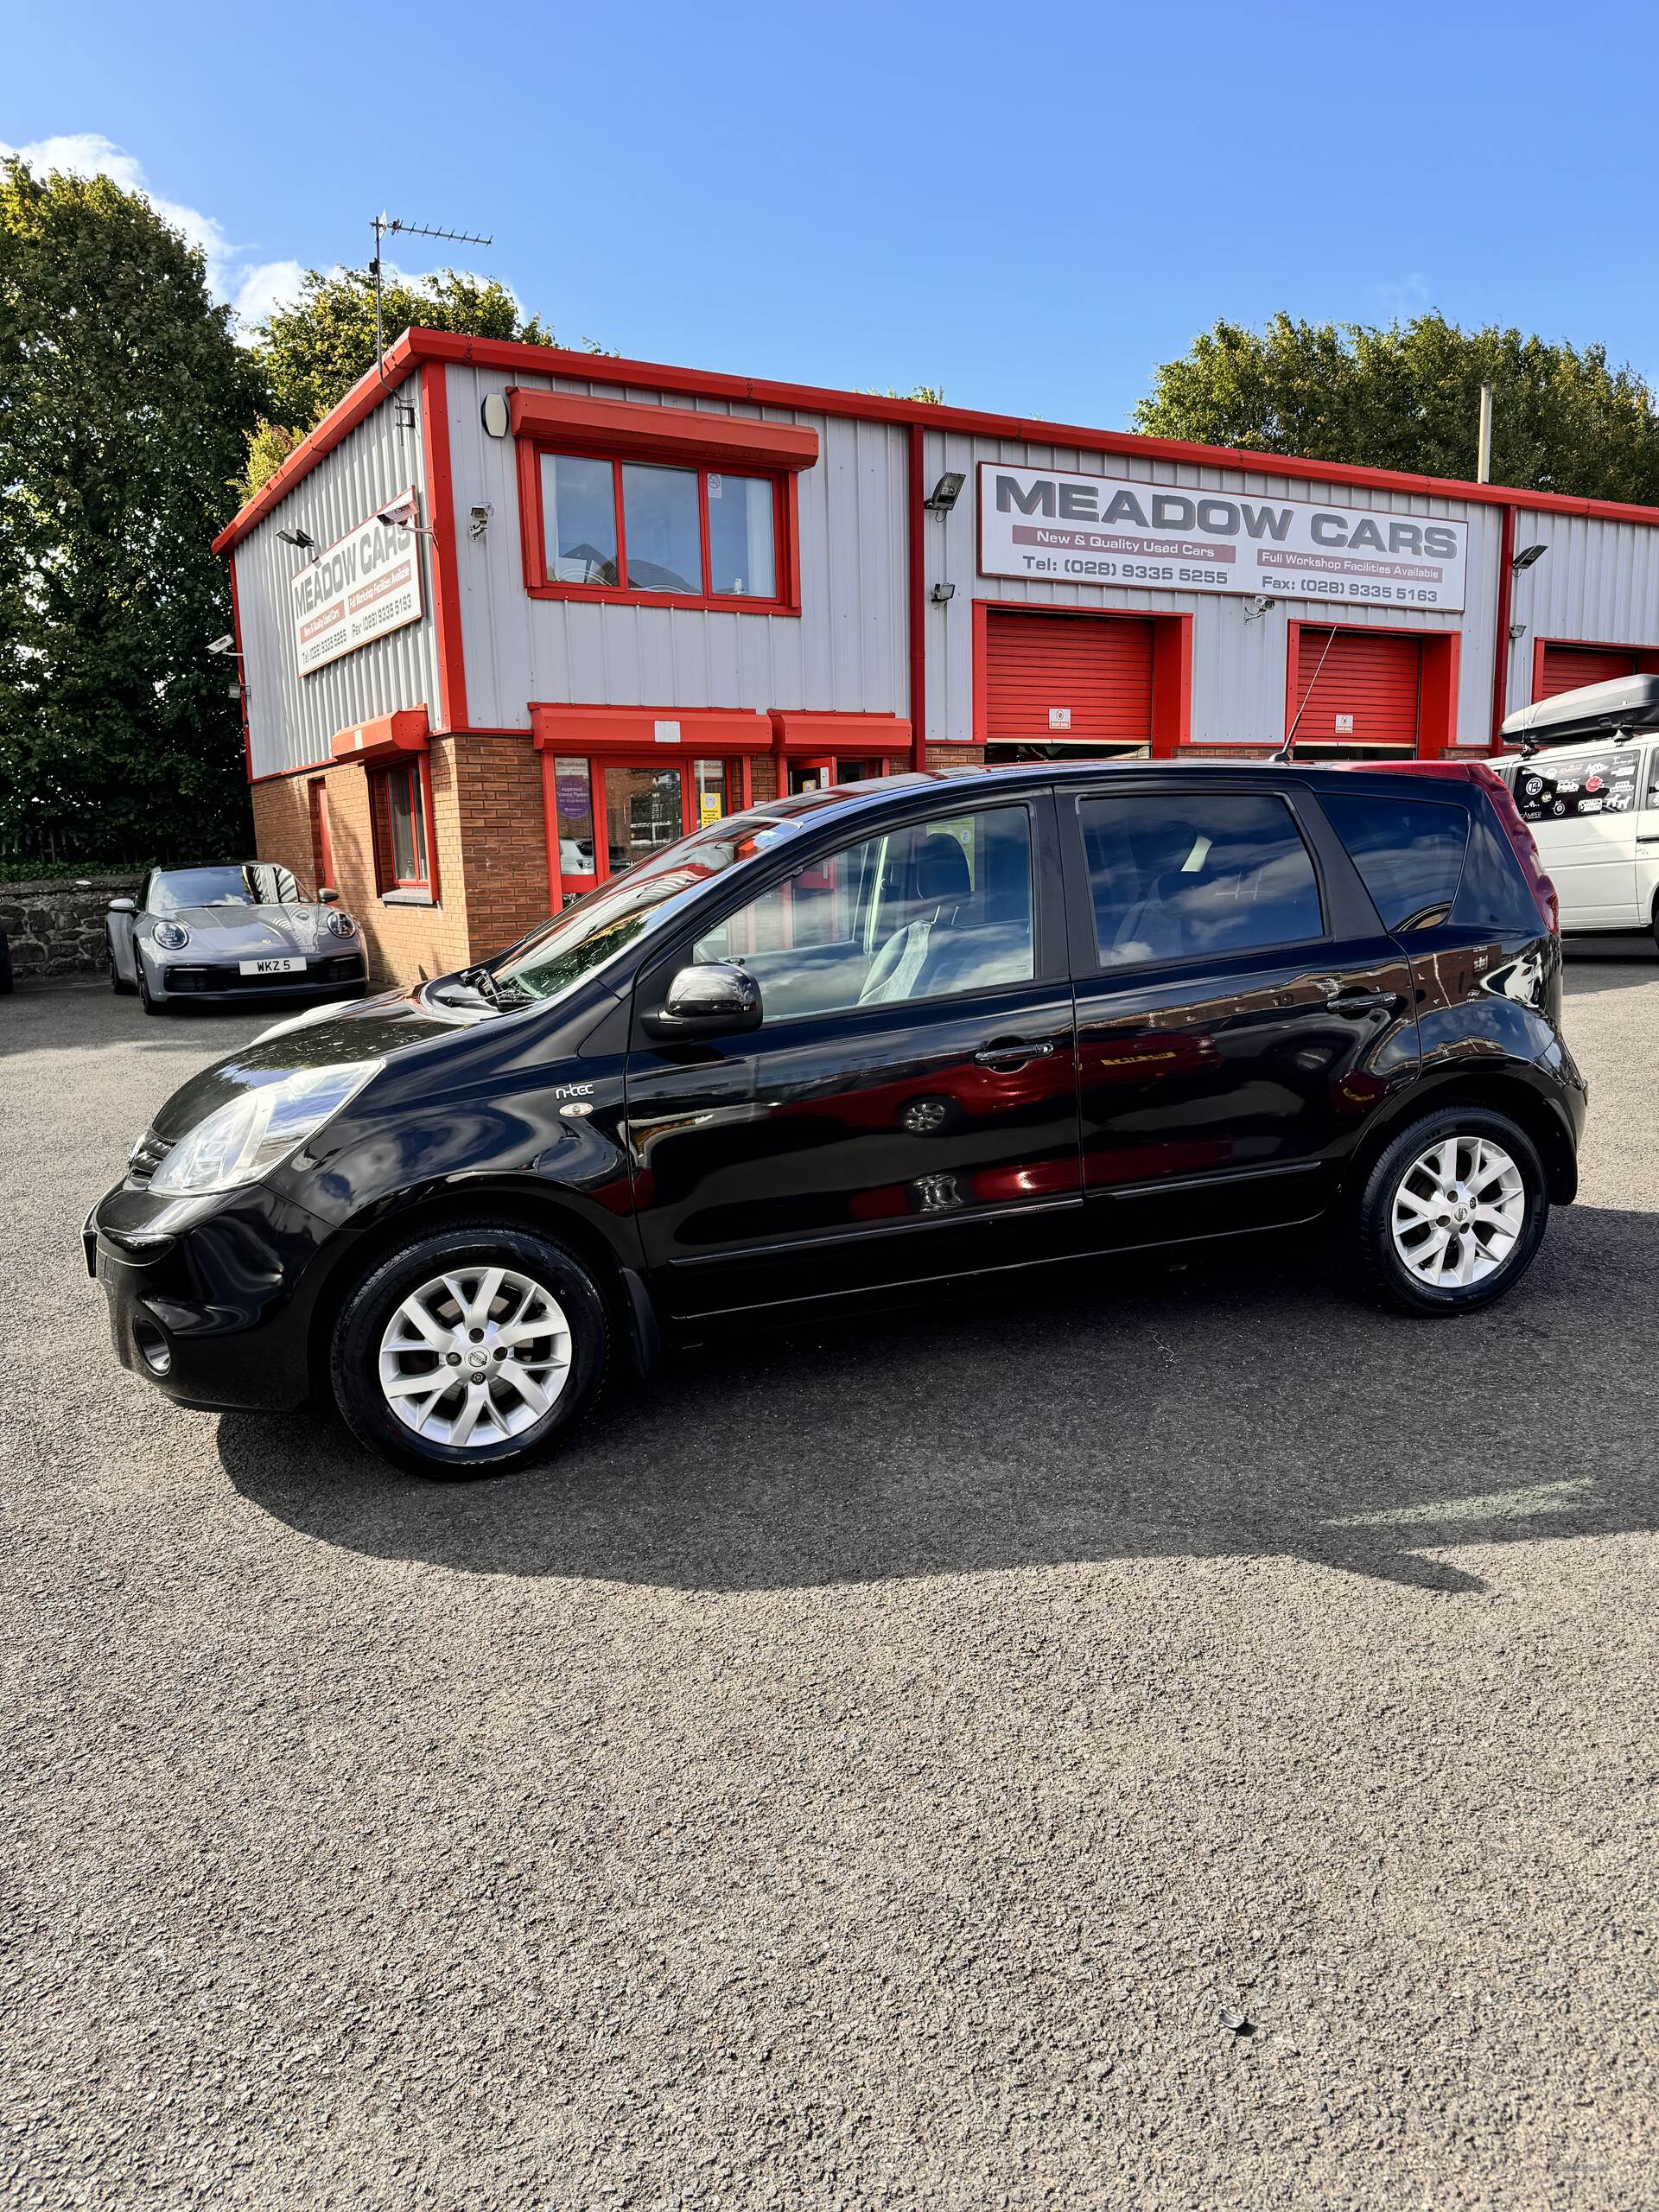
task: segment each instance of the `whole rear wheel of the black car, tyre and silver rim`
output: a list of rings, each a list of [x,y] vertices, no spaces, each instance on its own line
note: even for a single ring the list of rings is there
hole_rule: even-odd
[[[1537,1256],[1551,1197],[1526,1130],[1482,1106],[1411,1121],[1371,1168],[1358,1254],[1374,1296],[1402,1314],[1473,1314]]]

